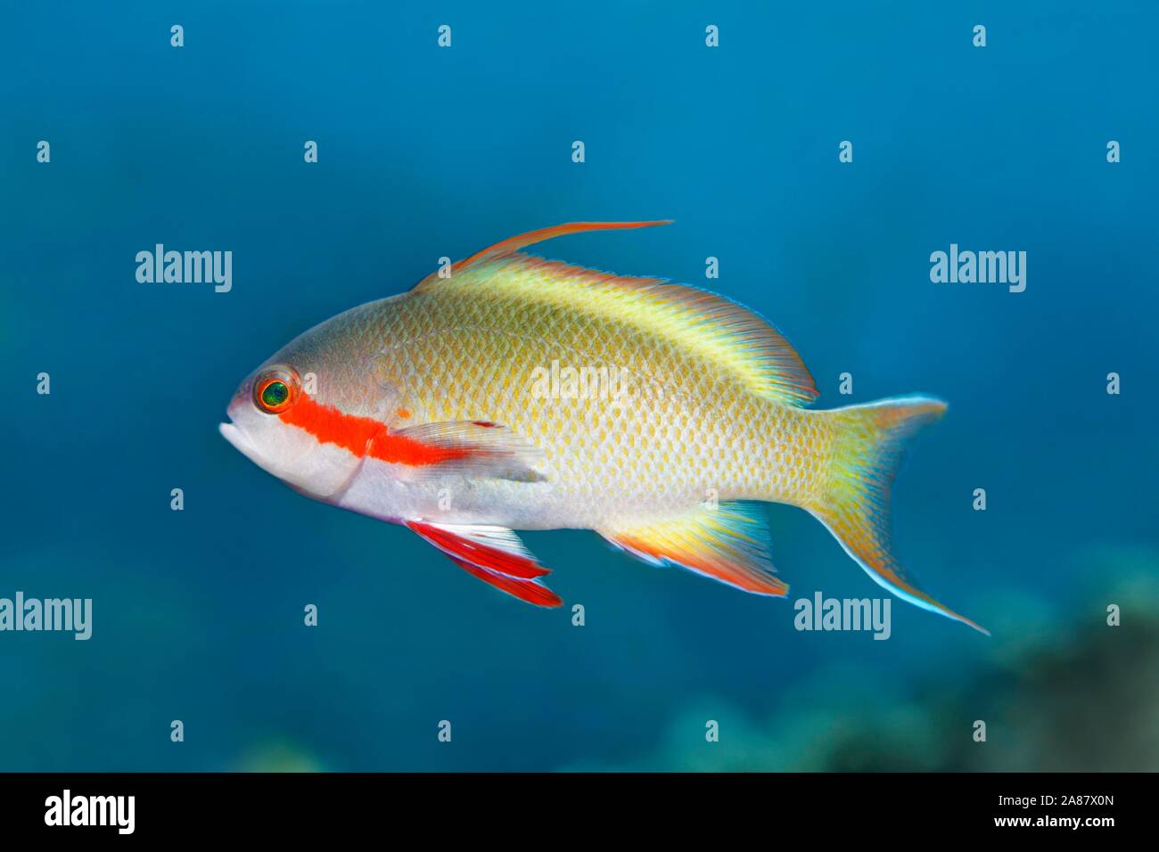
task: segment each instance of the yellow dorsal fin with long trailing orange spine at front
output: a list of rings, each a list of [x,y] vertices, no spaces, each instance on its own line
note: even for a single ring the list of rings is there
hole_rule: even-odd
[[[636,278],[523,254],[534,242],[586,231],[664,225],[666,221],[570,223],[497,242],[431,274],[415,292],[491,292],[551,303],[610,322],[630,325],[715,362],[755,393],[807,406],[818,392],[793,345],[759,314],[722,296],[662,278]]]

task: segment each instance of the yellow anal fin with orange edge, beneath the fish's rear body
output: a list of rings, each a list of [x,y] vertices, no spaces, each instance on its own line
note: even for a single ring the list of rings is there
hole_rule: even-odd
[[[643,526],[597,532],[651,565],[678,565],[753,595],[782,597],[789,590],[773,574],[759,507],[721,503]]]

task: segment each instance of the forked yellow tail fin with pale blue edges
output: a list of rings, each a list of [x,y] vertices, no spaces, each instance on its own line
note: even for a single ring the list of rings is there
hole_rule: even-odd
[[[905,443],[945,412],[946,403],[930,396],[897,396],[825,412],[837,424],[829,475],[821,494],[806,508],[880,585],[990,635],[918,589],[890,552],[889,490]]]

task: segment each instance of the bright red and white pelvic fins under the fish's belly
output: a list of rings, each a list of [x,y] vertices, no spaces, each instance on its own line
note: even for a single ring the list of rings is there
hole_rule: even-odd
[[[465,571],[520,600],[560,606],[563,600],[539,582],[551,571],[535,561],[523,541],[504,526],[432,524],[408,520],[407,526],[443,551]]]

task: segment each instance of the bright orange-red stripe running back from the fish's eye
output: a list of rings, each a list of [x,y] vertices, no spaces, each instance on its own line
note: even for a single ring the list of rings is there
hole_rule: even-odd
[[[283,423],[304,429],[320,444],[335,444],[358,458],[370,456],[396,465],[437,465],[471,456],[469,447],[436,446],[404,435],[392,435],[386,424],[373,417],[345,414],[302,394],[278,415]]]

